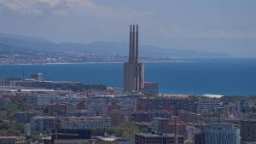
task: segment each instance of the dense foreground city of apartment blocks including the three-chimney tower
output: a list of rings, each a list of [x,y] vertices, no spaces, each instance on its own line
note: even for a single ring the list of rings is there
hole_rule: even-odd
[[[256,143],[255,95],[160,93],[144,78],[138,31],[130,27],[123,88],[50,81],[41,72],[0,78],[0,143]]]

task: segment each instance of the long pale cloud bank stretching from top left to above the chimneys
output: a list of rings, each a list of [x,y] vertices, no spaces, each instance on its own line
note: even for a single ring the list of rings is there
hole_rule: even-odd
[[[61,16],[66,18],[95,18],[97,20],[114,20],[130,23],[131,21],[147,20],[152,12],[135,9],[112,9],[97,5],[92,0],[0,0],[0,13],[12,12],[15,15]]]

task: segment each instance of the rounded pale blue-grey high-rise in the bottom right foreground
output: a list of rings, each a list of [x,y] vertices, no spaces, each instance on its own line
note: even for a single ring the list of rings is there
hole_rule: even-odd
[[[216,123],[205,130],[205,144],[239,144],[240,130],[232,124]]]

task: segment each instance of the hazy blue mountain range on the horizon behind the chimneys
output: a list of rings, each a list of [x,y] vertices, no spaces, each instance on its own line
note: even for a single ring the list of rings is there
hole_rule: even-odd
[[[53,43],[48,40],[0,33],[0,54],[32,55],[38,53],[72,53],[86,55],[128,55],[128,43],[94,42],[94,43]],[[140,45],[143,57],[168,58],[213,58],[229,55],[194,50],[166,49],[152,45]]]

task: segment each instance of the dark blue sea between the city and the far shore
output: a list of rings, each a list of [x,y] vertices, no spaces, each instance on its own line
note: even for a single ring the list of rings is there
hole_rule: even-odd
[[[146,63],[146,81],[160,84],[160,91],[172,94],[256,95],[256,59],[199,59],[194,62]],[[58,81],[122,86],[122,63],[0,66],[0,77],[22,77],[43,72]]]

